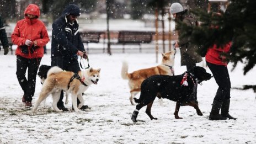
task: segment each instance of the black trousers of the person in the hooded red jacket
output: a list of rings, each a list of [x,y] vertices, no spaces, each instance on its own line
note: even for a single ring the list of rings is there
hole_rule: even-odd
[[[35,94],[36,73],[41,62],[40,58],[25,58],[17,56],[16,75],[24,92],[26,102],[31,102]],[[28,79],[26,79],[26,70],[28,69]]]

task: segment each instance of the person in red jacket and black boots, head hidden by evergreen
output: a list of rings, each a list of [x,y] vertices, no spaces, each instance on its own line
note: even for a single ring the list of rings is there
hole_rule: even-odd
[[[215,81],[218,84],[217,93],[212,103],[212,109],[209,116],[210,120],[226,120],[233,119],[228,112],[230,109],[230,75],[228,74],[227,64],[225,56],[222,53],[227,53],[230,51],[231,42],[223,47],[213,47],[207,50],[205,60],[207,66],[210,68],[212,74],[214,75]],[[221,109],[221,114],[220,114]]]

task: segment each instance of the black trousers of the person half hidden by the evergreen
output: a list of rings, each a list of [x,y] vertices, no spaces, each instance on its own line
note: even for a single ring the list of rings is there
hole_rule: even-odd
[[[209,62],[206,63],[207,66],[210,68],[212,74],[214,74],[215,81],[218,84],[218,89],[214,100],[223,102],[223,100],[230,99],[231,82],[230,74],[228,74],[227,67],[215,65]]]

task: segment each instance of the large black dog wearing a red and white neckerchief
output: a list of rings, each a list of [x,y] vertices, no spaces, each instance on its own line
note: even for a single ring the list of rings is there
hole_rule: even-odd
[[[151,115],[151,107],[156,97],[167,98],[176,103],[175,119],[182,119],[178,116],[180,104],[186,102],[186,105],[193,106],[198,115],[202,115],[198,104],[190,100],[193,87],[196,83],[211,79],[211,74],[207,73],[205,68],[193,67],[188,72],[177,76],[154,75],[145,79],[141,84],[141,95],[139,99],[134,98],[136,109],[131,116],[131,120],[137,122],[138,111],[147,105],[146,114],[150,119],[157,120]]]

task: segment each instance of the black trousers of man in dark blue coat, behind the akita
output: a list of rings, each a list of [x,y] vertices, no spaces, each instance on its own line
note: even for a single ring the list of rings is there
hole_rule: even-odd
[[[62,68],[62,70],[65,71],[71,71],[74,73],[78,73],[80,70],[79,67],[79,63],[77,61],[77,57],[76,58],[72,58],[72,59],[68,59],[68,58],[63,58],[63,57],[52,57],[51,58],[51,66],[58,66],[60,68]],[[63,90],[61,90],[61,97],[58,100],[57,106],[60,108],[62,106],[64,106],[63,103]],[[78,104],[79,104],[79,100],[78,100]]]

